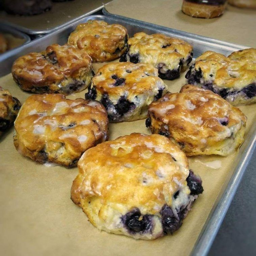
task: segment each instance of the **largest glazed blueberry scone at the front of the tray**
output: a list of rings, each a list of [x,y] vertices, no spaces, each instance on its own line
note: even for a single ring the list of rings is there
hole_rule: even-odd
[[[98,229],[136,239],[173,234],[203,192],[186,155],[158,134],[101,143],[82,155],[78,170],[73,202]]]

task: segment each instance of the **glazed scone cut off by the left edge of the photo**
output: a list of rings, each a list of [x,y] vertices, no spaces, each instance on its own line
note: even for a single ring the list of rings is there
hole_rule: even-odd
[[[0,86],[0,136],[13,125],[20,107],[20,101]]]

